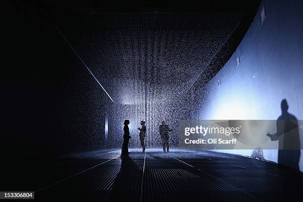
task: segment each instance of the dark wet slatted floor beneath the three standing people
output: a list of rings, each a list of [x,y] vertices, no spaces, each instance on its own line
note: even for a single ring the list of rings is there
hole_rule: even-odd
[[[11,164],[1,174],[1,190],[35,191],[36,201],[277,202],[303,196],[302,172],[218,152],[130,149],[121,156],[103,150],[39,162]]]

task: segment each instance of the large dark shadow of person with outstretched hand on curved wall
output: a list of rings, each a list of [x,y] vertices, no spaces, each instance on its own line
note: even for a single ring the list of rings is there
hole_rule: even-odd
[[[278,163],[299,170],[300,137],[298,120],[296,116],[288,112],[288,104],[285,99],[281,101],[282,114],[277,119],[277,131],[275,134],[267,132],[271,141],[279,140]]]

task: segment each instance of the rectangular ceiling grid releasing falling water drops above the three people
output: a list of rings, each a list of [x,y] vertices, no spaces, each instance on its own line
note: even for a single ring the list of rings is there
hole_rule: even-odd
[[[140,104],[146,90],[153,102],[188,91],[244,15],[71,14],[55,23],[114,101]]]

